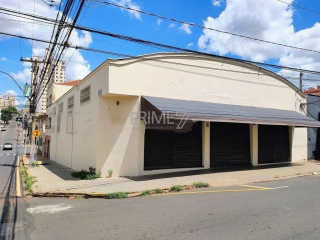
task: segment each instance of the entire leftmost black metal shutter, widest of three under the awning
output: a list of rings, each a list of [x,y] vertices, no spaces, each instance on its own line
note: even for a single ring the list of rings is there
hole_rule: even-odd
[[[145,129],[144,170],[202,166],[202,124],[189,132]]]

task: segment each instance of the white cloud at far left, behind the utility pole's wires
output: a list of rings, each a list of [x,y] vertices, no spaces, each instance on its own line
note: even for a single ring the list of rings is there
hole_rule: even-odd
[[[23,3],[20,2],[20,10],[23,12],[28,12],[33,14],[33,0],[24,0]],[[127,1],[129,2],[131,1]],[[2,7],[7,7],[11,9],[17,9],[18,6],[18,0],[11,0],[11,1],[2,1],[1,4]],[[56,8],[49,7],[47,4],[43,3],[42,1],[35,1],[35,12],[34,14],[46,16],[50,18],[55,18],[57,14]],[[13,20],[18,20],[18,17],[14,16],[8,16],[3,15],[0,13],[0,17],[10,18]],[[26,20],[30,21],[30,20]],[[20,27],[18,21],[0,21],[0,29],[4,32],[12,33],[12,34],[20,34]],[[46,25],[38,25],[34,24],[33,28],[33,37],[34,38],[40,38],[40,39],[49,39],[52,33],[52,26],[46,26]],[[32,36],[32,24],[30,23],[22,23],[21,22],[21,35],[23,36]],[[0,40],[7,40],[8,37],[2,37],[0,36]],[[31,41],[28,41],[31,43]],[[69,42],[73,45],[80,45],[80,46],[89,46],[89,44],[92,42],[91,34],[87,31],[78,31],[73,30],[69,39]],[[43,42],[36,42],[33,41],[33,48],[32,48],[32,54],[34,56],[43,56],[45,52],[45,48],[48,46],[47,43]],[[67,49],[63,60],[68,60],[70,56],[72,55],[74,49]],[[31,72],[30,72],[30,63],[23,62],[22,65],[24,66],[23,70],[20,70],[18,72],[11,73],[12,76],[20,80],[22,82],[30,81]],[[90,72],[90,65],[85,60],[79,50],[76,50],[72,57],[70,58],[70,61],[67,65],[66,69],[66,80],[73,80],[73,79],[79,79],[85,76]]]

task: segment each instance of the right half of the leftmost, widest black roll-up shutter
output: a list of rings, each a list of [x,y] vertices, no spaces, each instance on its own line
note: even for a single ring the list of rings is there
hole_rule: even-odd
[[[202,124],[192,125],[189,132],[174,132],[174,167],[202,166]]]

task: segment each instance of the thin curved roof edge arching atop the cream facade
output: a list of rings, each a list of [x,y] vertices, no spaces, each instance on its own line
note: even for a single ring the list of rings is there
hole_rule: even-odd
[[[289,86],[292,90],[297,92],[299,95],[306,97],[306,94],[301,91],[298,87],[296,87],[294,84],[292,84],[290,81],[288,81],[286,78],[276,74],[273,71],[270,71],[266,68],[263,68],[261,66],[254,65],[252,63],[248,63],[245,61],[232,59],[229,57],[223,57],[223,56],[208,56],[208,55],[200,55],[197,53],[189,53],[189,52],[156,52],[156,53],[149,53],[149,54],[143,54],[143,55],[137,55],[137,56],[130,56],[130,57],[122,57],[122,58],[108,58],[105,62],[103,62],[100,66],[102,66],[104,63],[115,63],[121,61],[123,64],[131,64],[137,61],[147,61],[147,60],[156,60],[159,58],[196,58],[196,59],[205,59],[205,60],[214,60],[214,61],[220,61],[227,64],[237,65],[241,67],[245,67],[251,70],[255,70],[257,72],[261,72],[263,74],[269,75],[273,78],[276,78],[277,80],[283,82],[287,86]],[[99,67],[97,67],[99,68]]]

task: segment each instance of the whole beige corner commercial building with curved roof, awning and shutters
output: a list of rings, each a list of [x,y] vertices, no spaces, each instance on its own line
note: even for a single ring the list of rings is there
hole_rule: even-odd
[[[274,72],[190,53],[108,59],[47,107],[50,159],[107,175],[307,160],[306,95]]]

